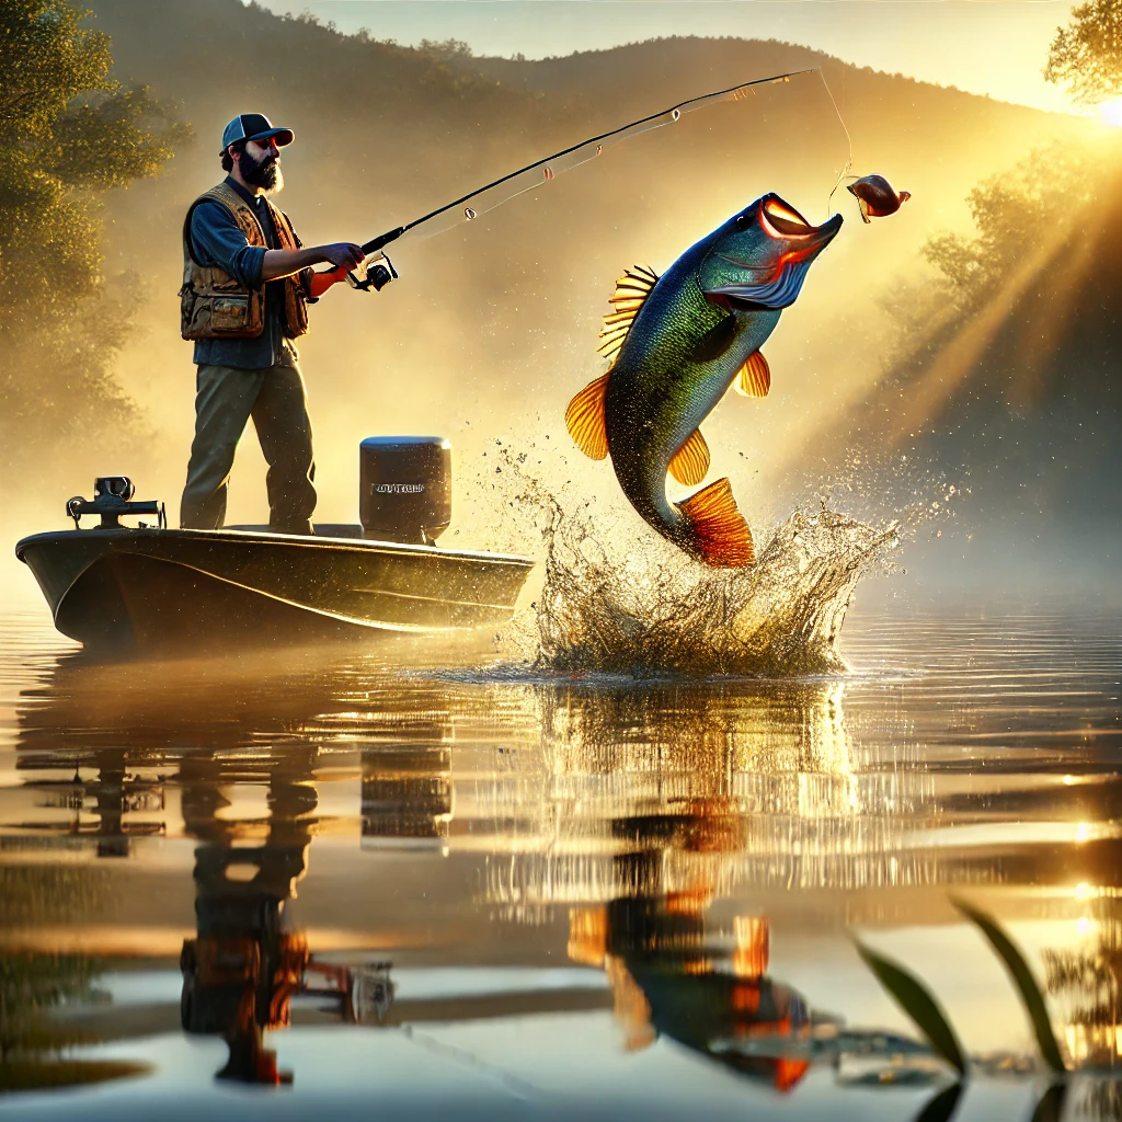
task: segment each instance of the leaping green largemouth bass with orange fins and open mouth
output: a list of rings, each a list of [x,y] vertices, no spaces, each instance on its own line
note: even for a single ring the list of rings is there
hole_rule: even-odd
[[[746,395],[766,395],[771,371],[760,348],[840,227],[840,214],[812,227],[766,194],[661,277],[628,269],[600,332],[611,366],[569,403],[565,425],[581,451],[594,460],[610,456],[638,514],[706,564],[751,565],[748,525],[727,479],[675,504],[666,498],[666,473],[687,486],[705,478],[709,449],[698,426],[734,380]]]

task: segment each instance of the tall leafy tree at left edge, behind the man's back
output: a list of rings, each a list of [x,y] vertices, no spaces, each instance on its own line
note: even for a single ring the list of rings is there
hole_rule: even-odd
[[[67,0],[0,4],[0,467],[135,415],[112,375],[137,283],[102,276],[100,196],[190,136],[110,77],[109,37]]]

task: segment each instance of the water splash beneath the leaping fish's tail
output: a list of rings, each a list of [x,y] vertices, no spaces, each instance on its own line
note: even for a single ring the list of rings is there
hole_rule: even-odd
[[[825,506],[794,512],[749,570],[684,558],[613,563],[580,517],[550,499],[535,669],[787,677],[845,670],[842,623],[862,576],[888,561],[898,526]]]

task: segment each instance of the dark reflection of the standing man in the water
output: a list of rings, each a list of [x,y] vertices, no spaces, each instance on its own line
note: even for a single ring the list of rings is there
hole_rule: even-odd
[[[315,762],[314,747],[293,746],[267,762],[190,755],[181,767],[184,825],[202,843],[194,868],[199,937],[184,940],[180,957],[181,1019],[186,1032],[226,1040],[229,1058],[219,1079],[292,1082],[264,1033],[288,1024],[297,994],[330,997],[343,1020],[356,1019],[351,971],[315,962],[304,936],[285,923],[316,822]],[[230,807],[222,788],[259,780],[263,766],[269,769],[269,817],[255,845],[259,824],[221,817]],[[320,976],[319,985],[310,985],[310,974]]]

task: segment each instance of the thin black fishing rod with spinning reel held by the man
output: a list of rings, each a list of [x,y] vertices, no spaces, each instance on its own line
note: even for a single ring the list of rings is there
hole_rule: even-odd
[[[698,98],[689,98],[686,101],[678,102],[677,105],[671,105],[669,109],[651,113],[649,117],[641,117],[637,121],[632,121],[629,125],[623,125],[617,129],[611,129],[610,132],[601,132],[599,136],[589,137],[587,140],[581,140],[580,144],[573,145],[571,148],[564,148],[552,156],[546,156],[544,159],[539,159],[533,164],[527,164],[525,167],[519,167],[516,172],[511,172],[508,175],[502,176],[502,178],[493,180],[490,183],[486,183],[484,186],[477,187],[475,191],[454,199],[452,202],[445,203],[443,206],[439,206],[436,210],[430,211],[419,219],[414,219],[406,226],[399,226],[395,230],[387,230],[385,233],[378,234],[377,238],[371,238],[361,247],[367,259],[357,269],[347,274],[347,282],[352,288],[358,288],[362,292],[369,292],[371,288],[380,292],[390,280],[397,277],[397,272],[383,250],[390,242],[397,241],[398,238],[414,230],[420,230],[421,227],[426,227],[422,232],[427,238],[443,233],[445,230],[450,230],[461,222],[470,222],[480,214],[486,214],[487,211],[494,210],[496,206],[508,202],[525,191],[533,191],[543,183],[549,183],[562,172],[570,172],[574,167],[580,167],[581,164],[587,164],[596,159],[597,156],[601,156],[608,148],[623,140],[628,140],[641,132],[650,132],[652,129],[662,128],[663,125],[673,125],[681,119],[683,113],[692,112],[702,105],[717,104],[721,101],[741,101],[748,95],[753,86],[790,82],[792,77],[799,77],[802,74],[812,74],[816,71],[821,76],[821,71],[818,66],[809,66],[806,70],[789,71],[785,74],[772,74],[769,77],[757,77],[751,82],[742,82],[739,85],[730,85],[726,90],[715,90],[712,93],[703,93]],[[824,77],[824,84],[825,81]],[[829,86],[827,86],[827,92],[829,92]],[[835,108],[837,107],[835,105]]]

